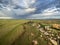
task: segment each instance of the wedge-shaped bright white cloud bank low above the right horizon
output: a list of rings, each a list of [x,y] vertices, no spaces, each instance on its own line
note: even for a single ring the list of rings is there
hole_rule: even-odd
[[[40,14],[33,14],[27,18],[29,19],[48,19],[48,18],[60,18],[60,8],[55,8],[55,7],[52,7],[52,8],[48,8],[44,11],[42,11],[42,13]]]

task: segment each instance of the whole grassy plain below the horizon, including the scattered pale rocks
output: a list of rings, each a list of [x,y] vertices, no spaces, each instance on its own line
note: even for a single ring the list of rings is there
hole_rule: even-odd
[[[58,45],[60,20],[0,20],[0,45]]]

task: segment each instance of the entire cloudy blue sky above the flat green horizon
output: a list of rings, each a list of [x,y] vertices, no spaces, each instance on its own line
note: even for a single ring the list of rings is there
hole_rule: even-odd
[[[60,0],[0,0],[0,19],[60,19]]]

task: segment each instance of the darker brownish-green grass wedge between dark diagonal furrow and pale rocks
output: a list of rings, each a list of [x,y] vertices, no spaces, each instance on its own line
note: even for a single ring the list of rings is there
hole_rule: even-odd
[[[26,30],[21,37],[19,37],[12,45],[32,45],[33,40],[37,40],[39,42],[38,45],[46,45],[46,41],[41,39],[40,32],[35,27],[32,27],[30,24],[25,25]],[[34,34],[34,36],[31,35]],[[40,38],[39,38],[40,37]]]

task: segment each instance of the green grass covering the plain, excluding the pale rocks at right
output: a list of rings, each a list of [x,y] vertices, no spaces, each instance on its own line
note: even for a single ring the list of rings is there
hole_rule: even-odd
[[[48,45],[49,40],[38,30],[37,24],[44,29],[46,25],[60,24],[60,20],[0,20],[0,45],[34,45],[33,40],[37,40],[36,45]],[[60,29],[52,28],[52,31],[57,35]]]

